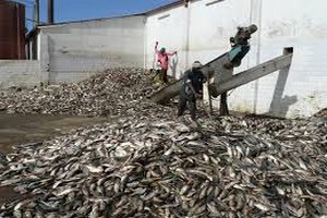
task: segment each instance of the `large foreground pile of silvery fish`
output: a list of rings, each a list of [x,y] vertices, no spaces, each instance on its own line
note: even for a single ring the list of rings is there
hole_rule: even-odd
[[[113,119],[15,147],[0,217],[327,216],[327,123]]]

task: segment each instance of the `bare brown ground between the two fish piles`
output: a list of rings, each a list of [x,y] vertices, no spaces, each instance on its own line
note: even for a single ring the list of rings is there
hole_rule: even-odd
[[[62,133],[106,122],[106,118],[87,118],[48,114],[5,114],[0,113],[0,153],[12,152],[12,146],[49,140]],[[19,197],[10,186],[0,187],[0,204]]]

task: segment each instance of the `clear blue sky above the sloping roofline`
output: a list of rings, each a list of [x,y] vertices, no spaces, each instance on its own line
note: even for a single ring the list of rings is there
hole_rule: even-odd
[[[26,4],[26,17],[33,19],[34,0],[17,0]],[[155,9],[175,0],[53,0],[55,21],[78,21],[86,19],[120,16]],[[47,22],[47,0],[40,0],[40,21]],[[32,22],[27,21],[31,28]]]

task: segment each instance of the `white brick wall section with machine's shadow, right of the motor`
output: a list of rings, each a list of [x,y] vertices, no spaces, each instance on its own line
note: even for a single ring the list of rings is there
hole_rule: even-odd
[[[253,38],[255,52],[247,57],[249,65],[253,65],[254,60],[264,62],[281,55],[283,47],[294,48],[293,61],[286,74],[276,72],[238,88],[231,95],[231,107],[242,109],[245,105],[251,112],[291,118],[308,117],[326,108],[327,68],[324,57],[327,51],[324,45],[327,43],[327,17],[324,9],[327,2],[257,0],[254,4],[258,9],[253,10],[253,17],[262,28]],[[256,11],[262,15],[255,14]],[[249,104],[249,97],[243,99],[249,95],[245,93],[253,94],[253,104]]]

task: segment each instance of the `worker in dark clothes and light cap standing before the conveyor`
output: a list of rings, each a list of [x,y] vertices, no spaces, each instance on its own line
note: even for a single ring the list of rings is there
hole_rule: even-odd
[[[183,85],[180,90],[180,100],[178,106],[178,117],[183,116],[187,105],[193,121],[196,120],[196,99],[203,97],[203,83],[206,77],[201,71],[202,63],[194,61],[192,69],[187,70],[183,75]]]

